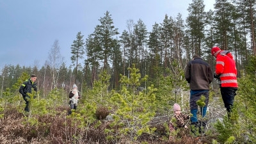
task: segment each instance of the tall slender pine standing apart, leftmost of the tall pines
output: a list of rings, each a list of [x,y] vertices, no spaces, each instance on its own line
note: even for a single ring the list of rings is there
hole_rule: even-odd
[[[71,45],[71,61],[73,65],[76,67],[76,74],[74,82],[77,83],[77,69],[81,68],[81,63],[79,63],[80,59],[83,59],[84,55],[84,40],[83,35],[81,35],[81,31],[79,31],[76,35],[76,40],[73,41],[73,44]]]

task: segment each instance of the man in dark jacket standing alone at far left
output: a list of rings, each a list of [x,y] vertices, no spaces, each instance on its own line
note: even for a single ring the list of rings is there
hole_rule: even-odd
[[[32,88],[33,90],[35,90],[35,92],[37,92],[37,86],[35,81],[36,81],[36,76],[33,74],[30,76],[30,79],[27,79],[26,81],[24,81],[24,83],[22,83],[19,88],[19,92],[26,102],[26,107],[24,108],[24,111],[27,111],[27,112],[29,112],[29,106],[30,106],[30,96],[28,95],[28,93],[32,93]],[[35,99],[36,96],[34,96],[33,98]]]

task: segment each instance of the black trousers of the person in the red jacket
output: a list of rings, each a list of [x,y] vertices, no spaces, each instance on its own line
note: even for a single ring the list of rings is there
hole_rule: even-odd
[[[231,88],[231,87],[220,88],[222,100],[224,102],[224,106],[227,109],[228,113],[232,111],[232,106],[236,96],[236,91],[237,91],[237,88]]]

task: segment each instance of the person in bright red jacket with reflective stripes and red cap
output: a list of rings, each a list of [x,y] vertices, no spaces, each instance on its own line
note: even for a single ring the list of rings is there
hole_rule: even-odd
[[[230,51],[221,51],[218,46],[212,47],[211,54],[216,58],[214,77],[220,80],[220,92],[229,117],[238,88],[236,62]]]

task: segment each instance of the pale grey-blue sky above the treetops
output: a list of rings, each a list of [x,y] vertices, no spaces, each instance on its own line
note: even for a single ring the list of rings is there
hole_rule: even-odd
[[[107,11],[115,28],[127,30],[127,20],[141,19],[151,31],[164,16],[185,20],[192,0],[0,0],[0,69],[4,65],[44,66],[55,40],[67,66],[79,31],[84,42]],[[205,11],[215,0],[205,0]]]

